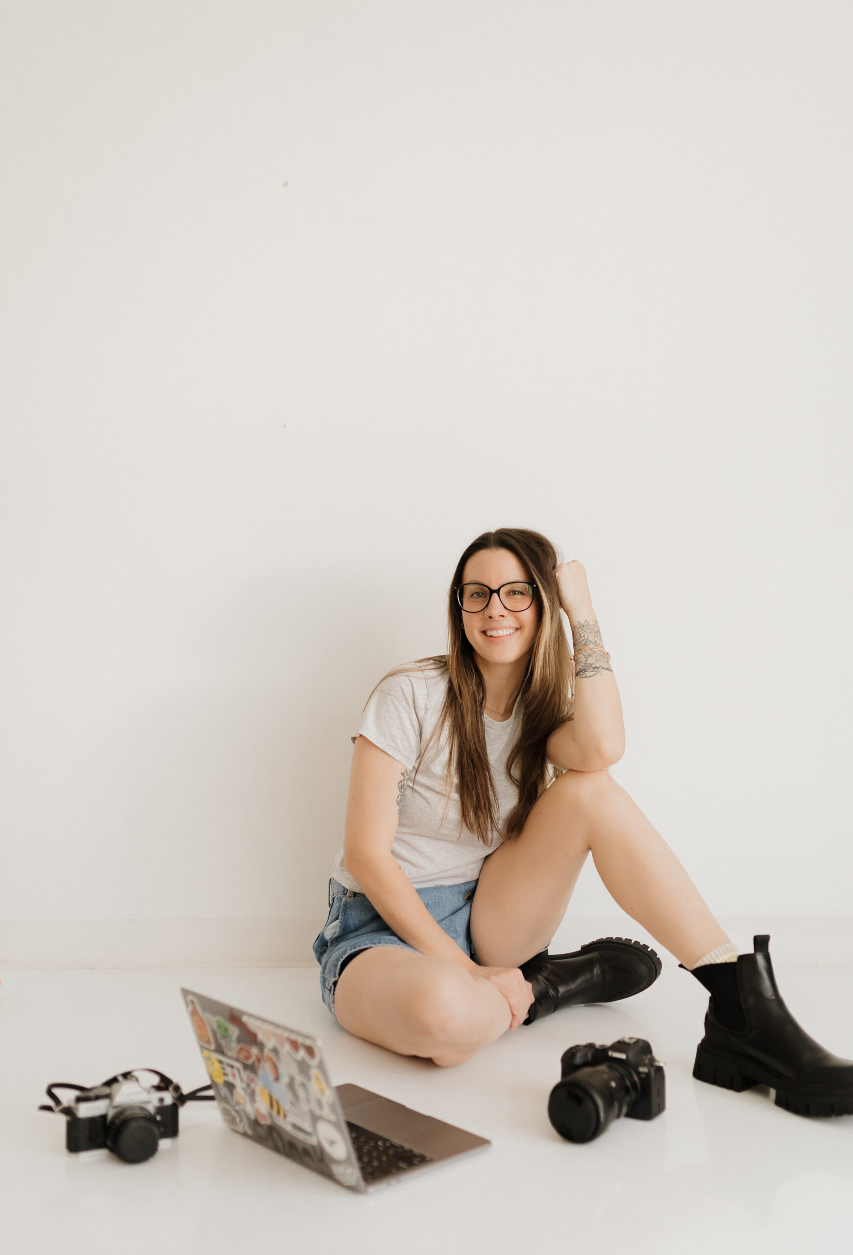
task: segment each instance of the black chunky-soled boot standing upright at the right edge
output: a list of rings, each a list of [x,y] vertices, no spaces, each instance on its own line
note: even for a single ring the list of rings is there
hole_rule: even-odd
[[[799,1027],[776,988],[769,936],[738,963],[694,968],[711,995],[694,1077],[724,1089],[769,1086],[798,1116],[853,1114],[853,1060],[824,1050]]]

